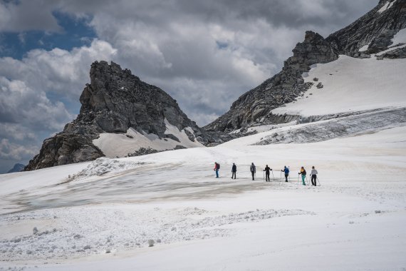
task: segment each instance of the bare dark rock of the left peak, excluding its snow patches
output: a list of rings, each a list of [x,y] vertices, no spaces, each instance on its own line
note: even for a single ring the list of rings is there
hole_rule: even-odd
[[[204,145],[223,142],[236,136],[207,133],[189,120],[177,101],[156,86],[140,81],[130,70],[105,61],[95,62],[90,68],[90,84],[80,96],[80,113],[66,124],[63,132],[43,141],[40,153],[25,170],[66,165],[104,156],[92,142],[100,133],[125,133],[134,128],[140,133],[154,133],[160,138],[175,136],[165,133],[165,119],[179,130],[185,130],[189,140]],[[179,145],[178,148],[182,146]]]

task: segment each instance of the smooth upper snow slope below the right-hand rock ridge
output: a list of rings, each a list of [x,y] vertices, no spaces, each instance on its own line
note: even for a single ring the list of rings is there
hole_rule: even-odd
[[[313,65],[303,74],[306,82],[318,82],[297,101],[276,108],[274,114],[323,116],[406,106],[406,59],[351,58]],[[318,83],[323,88],[316,88]]]

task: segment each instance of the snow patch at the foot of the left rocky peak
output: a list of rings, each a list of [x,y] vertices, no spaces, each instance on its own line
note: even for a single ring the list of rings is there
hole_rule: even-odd
[[[187,127],[179,131],[179,129],[176,126],[172,126],[167,119],[165,119],[165,125],[167,127],[165,134],[176,136],[180,142],[172,138],[159,138],[153,133],[148,134],[144,131],[139,133],[135,131],[135,129],[129,128],[125,134],[101,133],[99,138],[93,140],[93,144],[98,146],[108,158],[125,157],[128,153],[134,153],[140,148],[170,150],[177,145],[182,145],[186,148],[203,147],[202,143],[199,143],[197,140],[189,140],[187,134],[184,132],[184,130],[187,130],[193,133],[192,128]]]

